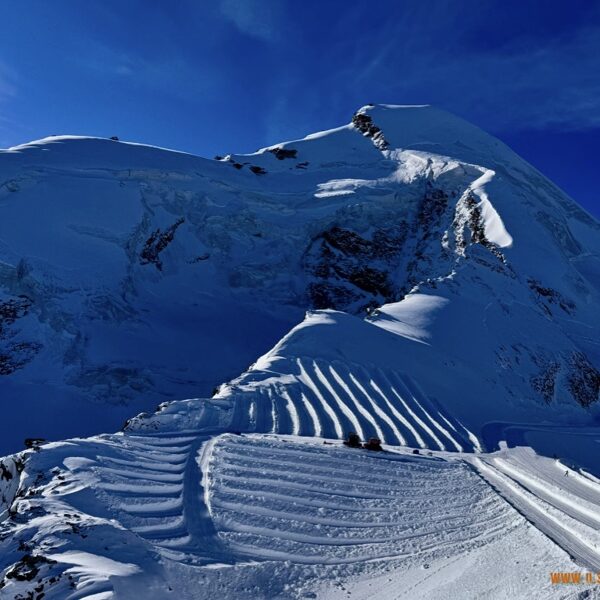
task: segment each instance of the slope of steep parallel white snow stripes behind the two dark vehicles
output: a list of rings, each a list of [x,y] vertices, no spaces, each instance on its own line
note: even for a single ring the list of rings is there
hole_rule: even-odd
[[[265,381],[232,396],[233,430],[337,439],[355,431],[390,445],[481,451],[475,436],[406,374],[308,358],[290,360],[289,366],[297,368],[295,384],[280,389]]]

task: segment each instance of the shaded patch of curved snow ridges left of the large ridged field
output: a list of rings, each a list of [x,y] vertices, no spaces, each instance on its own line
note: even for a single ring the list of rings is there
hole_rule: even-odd
[[[208,492],[203,455],[210,453],[215,438],[210,433],[176,436],[128,435],[124,445],[129,460],[120,461],[122,469],[98,467],[101,481],[97,487],[119,521],[165,556],[193,564],[226,561],[204,502]],[[148,458],[156,466],[146,466]],[[114,459],[105,462],[114,464]],[[157,473],[149,471],[156,467],[160,468]],[[132,484],[130,480],[136,477],[156,483]]]

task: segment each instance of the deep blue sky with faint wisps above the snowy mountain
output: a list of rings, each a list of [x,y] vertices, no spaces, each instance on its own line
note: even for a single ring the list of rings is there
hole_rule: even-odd
[[[50,134],[212,157],[429,103],[596,216],[600,2],[0,0],[0,147]]]

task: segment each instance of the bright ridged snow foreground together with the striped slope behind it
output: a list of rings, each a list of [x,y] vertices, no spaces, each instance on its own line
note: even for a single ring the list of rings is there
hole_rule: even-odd
[[[600,571],[596,478],[530,448],[468,446],[400,375],[295,364],[305,387],[274,401],[267,385],[249,415],[239,396],[175,402],[28,451],[22,472],[4,459],[19,483],[5,486],[0,597],[565,598],[551,572]],[[301,411],[319,396],[329,410]],[[421,443],[378,453],[316,435],[351,398],[340,427],[386,423],[408,441],[403,425]],[[309,437],[233,432],[243,423]]]

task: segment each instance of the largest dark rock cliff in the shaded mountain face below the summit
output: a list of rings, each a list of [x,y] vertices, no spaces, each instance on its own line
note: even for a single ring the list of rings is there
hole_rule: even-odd
[[[304,258],[305,269],[317,280],[308,289],[312,307],[362,313],[447,275],[458,258],[443,244],[450,199],[448,192],[427,184],[419,200],[407,201],[405,220],[396,225],[380,217],[369,236],[349,226],[323,231]]]

